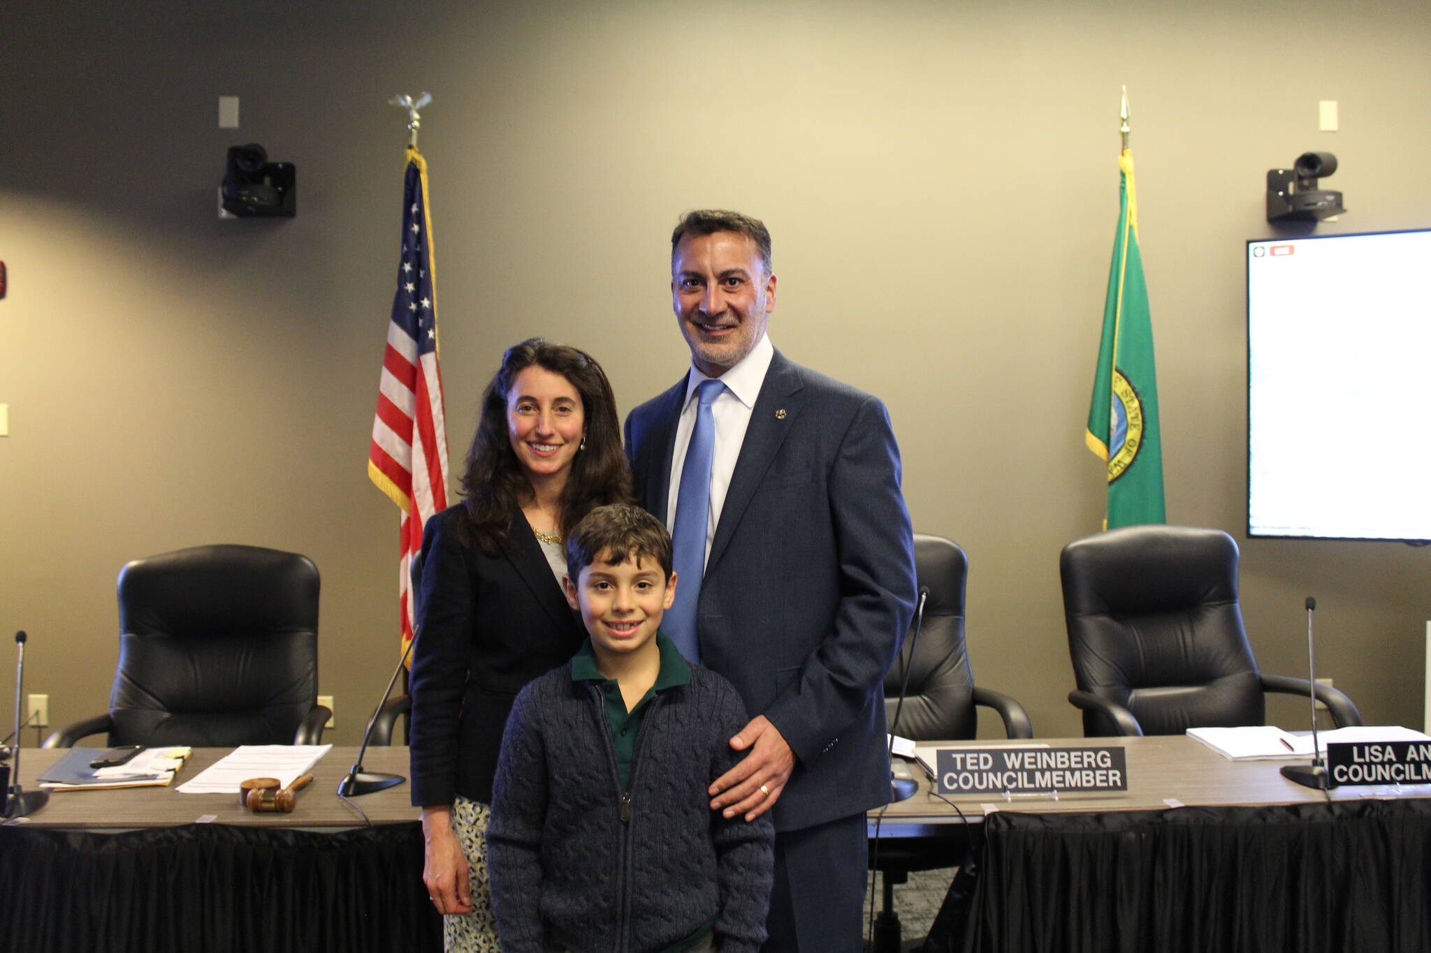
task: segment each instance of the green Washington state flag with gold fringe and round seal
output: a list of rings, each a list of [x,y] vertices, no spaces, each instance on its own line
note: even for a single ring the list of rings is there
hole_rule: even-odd
[[[1162,433],[1158,426],[1158,373],[1148,310],[1143,259],[1138,251],[1138,191],[1133,154],[1123,149],[1118,236],[1108,273],[1103,340],[1088,410],[1088,449],[1108,463],[1108,516],[1103,529],[1165,523]]]

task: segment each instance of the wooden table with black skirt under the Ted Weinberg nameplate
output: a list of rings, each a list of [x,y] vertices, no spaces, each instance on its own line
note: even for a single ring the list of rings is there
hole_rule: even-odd
[[[1035,743],[1125,747],[1129,790],[959,796],[957,820],[916,769],[881,834],[973,844],[926,953],[1431,950],[1431,786],[1311,790],[1183,736]]]

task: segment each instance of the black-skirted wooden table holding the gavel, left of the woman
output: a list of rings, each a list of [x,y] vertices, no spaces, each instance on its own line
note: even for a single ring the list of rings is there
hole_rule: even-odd
[[[351,799],[361,814],[336,794],[356,749],[333,747],[290,814],[179,793],[229,750],[195,749],[170,787],[52,793],[0,826],[0,950],[442,949],[406,783]],[[26,749],[26,790],[63,754]],[[408,749],[363,767],[406,777]]]

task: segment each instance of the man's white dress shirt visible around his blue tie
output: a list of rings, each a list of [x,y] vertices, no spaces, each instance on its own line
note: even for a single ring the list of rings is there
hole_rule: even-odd
[[[690,380],[685,386],[685,406],[681,409],[681,420],[675,424],[675,447],[671,453],[671,490],[665,502],[665,527],[675,530],[675,503],[681,494],[681,470],[685,467],[685,450],[691,443],[691,430],[695,429],[695,410],[700,401],[695,400],[695,389],[705,380],[718,380],[726,389],[711,404],[711,420],[716,424],[716,449],[711,457],[711,506],[705,524],[705,559],[711,556],[711,540],[716,539],[716,526],[720,523],[721,507],[726,506],[726,492],[730,489],[730,477],[736,471],[736,460],[740,459],[740,446],[746,441],[746,429],[750,427],[750,414],[756,409],[756,397],[766,383],[766,371],[776,356],[776,346],[770,343],[768,334],[761,334],[750,353],[727,370],[720,377],[707,377],[695,364],[691,364]]]

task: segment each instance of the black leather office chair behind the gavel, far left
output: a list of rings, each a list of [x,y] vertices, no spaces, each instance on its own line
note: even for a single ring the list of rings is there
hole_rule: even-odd
[[[256,546],[196,546],[119,573],[109,712],[53,733],[109,744],[318,744],[318,567]]]

